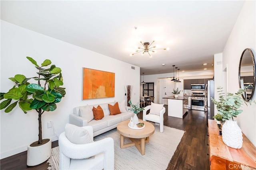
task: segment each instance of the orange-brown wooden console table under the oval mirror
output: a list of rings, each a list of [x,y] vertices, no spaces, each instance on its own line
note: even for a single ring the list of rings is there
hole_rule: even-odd
[[[209,153],[211,170],[256,169],[256,147],[243,134],[241,149],[230,148],[218,135],[216,121],[208,120]]]

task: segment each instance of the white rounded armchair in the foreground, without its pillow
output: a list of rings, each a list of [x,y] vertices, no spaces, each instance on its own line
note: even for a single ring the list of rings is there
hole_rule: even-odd
[[[92,126],[82,127],[86,129],[93,139]],[[60,170],[92,170],[114,169],[114,140],[110,137],[100,141],[77,145],[71,143],[62,132],[59,137]]]

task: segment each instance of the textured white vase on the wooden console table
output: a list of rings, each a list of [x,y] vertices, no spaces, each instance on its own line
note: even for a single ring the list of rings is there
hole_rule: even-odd
[[[242,130],[236,121],[226,120],[222,125],[222,140],[228,147],[234,149],[240,149],[242,147]]]

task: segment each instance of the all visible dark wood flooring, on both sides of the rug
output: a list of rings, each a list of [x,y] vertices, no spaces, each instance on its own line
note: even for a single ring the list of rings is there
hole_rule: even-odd
[[[206,113],[204,111],[189,110],[183,119],[168,116],[168,108],[164,114],[164,125],[186,131],[177,150],[170,160],[167,170],[209,170],[208,137]],[[142,113],[138,113],[142,119]],[[52,147],[58,146],[58,141]],[[22,152],[0,160],[1,170],[46,170],[48,163],[38,166],[26,165],[27,152]]]

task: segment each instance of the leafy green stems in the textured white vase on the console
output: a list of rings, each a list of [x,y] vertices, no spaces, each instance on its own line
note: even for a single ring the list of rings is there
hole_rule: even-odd
[[[242,92],[245,90],[239,89],[235,94],[227,93],[226,98],[224,97],[224,90],[222,87],[217,87],[219,93],[219,101],[212,99],[212,102],[216,104],[218,112],[222,115],[222,121],[230,120],[234,121],[233,117],[237,117],[238,114],[242,113],[243,110],[239,108],[243,104],[246,104],[242,99]],[[247,106],[247,104],[246,104]]]

